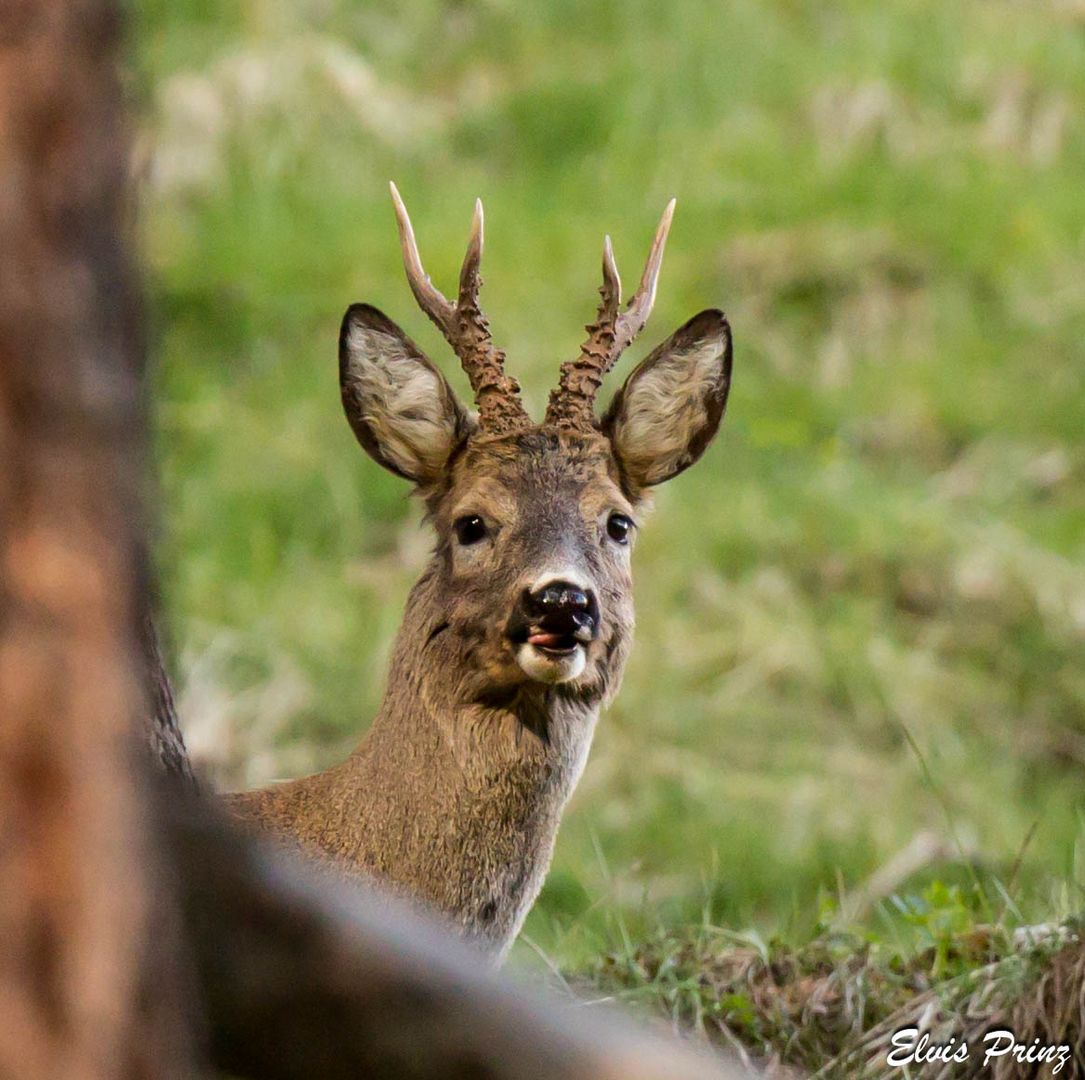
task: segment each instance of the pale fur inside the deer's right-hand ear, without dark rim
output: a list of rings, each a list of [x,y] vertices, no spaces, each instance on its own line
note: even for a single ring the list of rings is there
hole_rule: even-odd
[[[690,444],[709,422],[709,395],[724,377],[726,345],[714,338],[665,353],[627,387],[614,443],[640,483],[662,483],[689,465]]]

